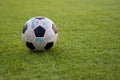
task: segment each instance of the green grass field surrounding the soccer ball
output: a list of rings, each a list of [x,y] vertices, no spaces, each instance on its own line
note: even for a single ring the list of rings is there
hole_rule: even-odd
[[[34,16],[57,25],[49,51],[22,43]],[[1,0],[0,80],[120,80],[120,0]]]

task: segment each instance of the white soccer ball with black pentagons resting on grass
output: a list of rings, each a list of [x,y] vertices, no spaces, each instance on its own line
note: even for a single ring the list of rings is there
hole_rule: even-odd
[[[56,43],[57,37],[55,23],[43,16],[29,19],[22,30],[23,42],[33,51],[50,49]]]

